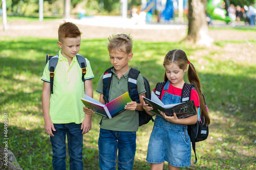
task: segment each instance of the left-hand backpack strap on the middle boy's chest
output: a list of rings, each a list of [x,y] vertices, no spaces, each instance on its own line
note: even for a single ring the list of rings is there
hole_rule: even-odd
[[[114,66],[106,69],[103,75],[103,99],[105,100],[105,103],[109,103],[110,84],[113,76],[113,68]]]

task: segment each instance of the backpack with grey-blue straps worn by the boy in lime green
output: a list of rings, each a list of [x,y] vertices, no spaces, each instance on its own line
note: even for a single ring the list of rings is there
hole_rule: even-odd
[[[46,63],[49,61],[51,94],[53,93],[54,71],[55,71],[56,65],[58,63],[58,57],[59,57],[58,54],[56,56],[51,56],[49,54],[46,55]],[[87,67],[86,59],[79,54],[76,55],[76,58],[77,58],[79,65],[82,69],[82,82],[84,82],[84,81],[86,81],[86,80],[84,80],[84,75],[86,75],[86,67]]]

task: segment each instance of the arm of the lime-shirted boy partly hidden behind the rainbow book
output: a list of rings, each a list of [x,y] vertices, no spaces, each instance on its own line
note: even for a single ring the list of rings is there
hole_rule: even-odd
[[[93,85],[92,85],[92,79],[86,80],[84,82],[84,86],[86,87],[85,93],[86,95],[93,98]],[[85,134],[89,132],[92,128],[92,121],[91,121],[92,115],[86,114],[86,116],[83,119],[81,130],[82,134]]]

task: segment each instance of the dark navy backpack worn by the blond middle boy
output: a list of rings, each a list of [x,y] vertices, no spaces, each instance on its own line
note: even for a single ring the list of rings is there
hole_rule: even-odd
[[[106,103],[109,103],[109,90],[110,90],[110,84],[112,80],[112,69],[114,66],[108,68],[104,72],[103,76],[103,99]],[[140,71],[135,68],[131,68],[128,75],[128,89],[129,89],[129,95],[132,101],[135,101],[137,103],[140,103],[139,100],[139,94],[137,89],[137,78],[140,74]],[[150,84],[148,81],[143,77],[144,85],[146,89],[146,98],[151,99],[151,90],[150,90]],[[144,124],[147,124],[152,120],[154,122],[154,119],[152,116],[148,115],[145,111],[139,111],[139,126],[142,126]]]

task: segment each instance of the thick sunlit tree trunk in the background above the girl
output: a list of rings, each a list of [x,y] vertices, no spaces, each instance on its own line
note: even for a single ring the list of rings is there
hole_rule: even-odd
[[[200,46],[212,44],[206,21],[206,3],[207,0],[188,0],[188,33],[183,41]]]

